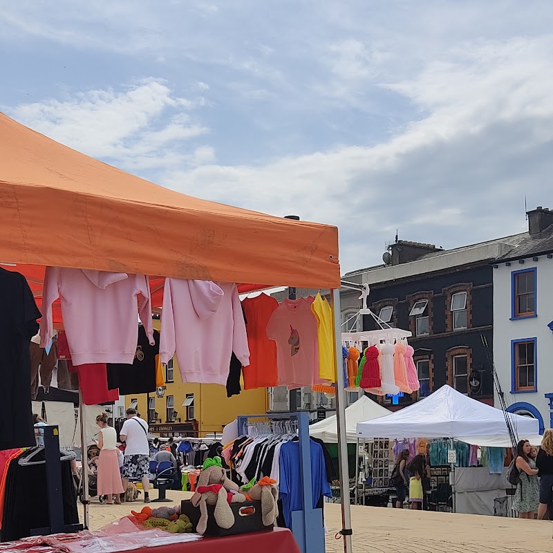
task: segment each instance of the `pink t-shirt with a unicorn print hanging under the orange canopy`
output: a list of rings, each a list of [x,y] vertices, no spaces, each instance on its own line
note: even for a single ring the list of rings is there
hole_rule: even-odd
[[[326,384],[319,378],[317,320],[305,299],[285,299],[271,315],[267,336],[277,342],[279,386]]]

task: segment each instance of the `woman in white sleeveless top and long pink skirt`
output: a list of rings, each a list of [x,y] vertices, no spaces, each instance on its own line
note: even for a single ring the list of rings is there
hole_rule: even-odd
[[[102,413],[96,417],[96,424],[100,427],[98,432],[98,447],[100,458],[98,459],[98,495],[106,496],[106,505],[120,505],[120,494],[123,493],[123,484],[119,470],[119,457],[117,452],[117,432],[108,424],[108,414]]]

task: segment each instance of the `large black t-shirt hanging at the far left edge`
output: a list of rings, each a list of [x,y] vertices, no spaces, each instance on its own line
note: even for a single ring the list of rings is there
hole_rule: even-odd
[[[41,317],[29,285],[19,272],[0,268],[0,449],[35,445],[30,406],[30,339]]]

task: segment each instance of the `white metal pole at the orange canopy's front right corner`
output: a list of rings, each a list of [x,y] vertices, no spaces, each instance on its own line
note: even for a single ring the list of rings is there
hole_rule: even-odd
[[[351,511],[350,511],[350,475],[348,471],[348,435],[346,433],[346,395],[344,393],[344,370],[341,355],[341,317],[340,290],[331,290],[332,312],[334,314],[334,337],[337,363],[336,379],[336,422],[338,431],[338,463],[340,473],[341,526],[344,537],[344,553],[352,553]],[[357,464],[357,451],[355,452]],[[355,482],[357,487],[357,482]]]

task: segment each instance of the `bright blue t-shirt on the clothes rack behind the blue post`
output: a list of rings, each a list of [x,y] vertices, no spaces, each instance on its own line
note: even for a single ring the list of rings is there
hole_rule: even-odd
[[[330,485],[326,479],[326,465],[321,444],[309,440],[311,453],[311,490],[315,508],[321,495],[332,497]],[[292,528],[292,511],[301,511],[303,498],[299,466],[299,442],[285,442],[279,454],[280,498],[283,516],[288,528]]]

